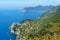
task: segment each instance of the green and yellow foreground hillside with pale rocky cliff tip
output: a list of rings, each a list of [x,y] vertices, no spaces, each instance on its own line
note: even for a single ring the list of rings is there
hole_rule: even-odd
[[[60,6],[54,7],[36,20],[24,20],[11,25],[16,40],[60,40]]]

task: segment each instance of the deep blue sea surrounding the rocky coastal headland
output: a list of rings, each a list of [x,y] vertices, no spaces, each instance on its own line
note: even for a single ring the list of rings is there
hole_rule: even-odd
[[[43,12],[20,12],[18,10],[0,10],[0,40],[15,40],[15,35],[10,32],[13,22],[21,22],[26,19],[36,19]]]

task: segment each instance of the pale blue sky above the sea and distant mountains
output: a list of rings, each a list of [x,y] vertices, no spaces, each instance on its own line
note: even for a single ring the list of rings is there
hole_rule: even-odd
[[[60,0],[0,0],[0,9],[20,9],[30,6],[60,5]]]

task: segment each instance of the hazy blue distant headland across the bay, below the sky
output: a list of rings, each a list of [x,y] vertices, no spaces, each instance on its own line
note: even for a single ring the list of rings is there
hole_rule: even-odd
[[[22,9],[22,12],[31,12],[31,11],[37,11],[37,12],[45,12],[47,10],[52,9],[54,6],[36,6],[36,7],[26,7]]]

